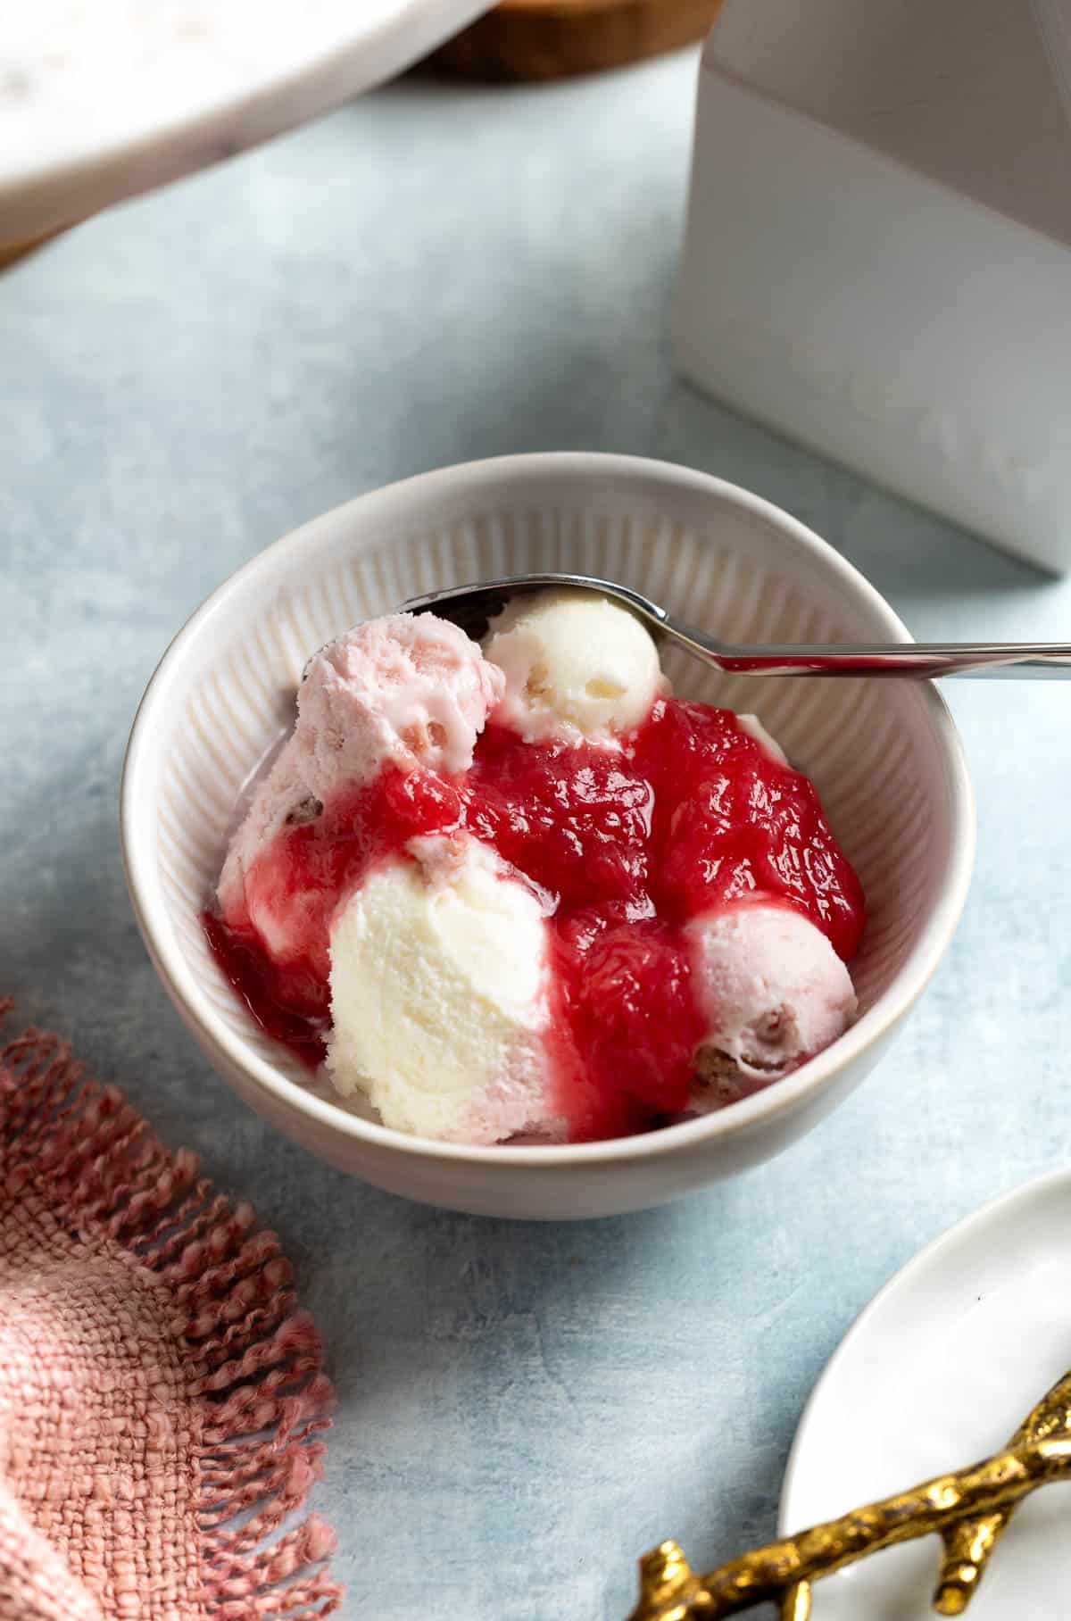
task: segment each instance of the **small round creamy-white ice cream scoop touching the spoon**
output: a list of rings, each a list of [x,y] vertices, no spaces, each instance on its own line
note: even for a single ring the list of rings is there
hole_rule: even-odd
[[[493,621],[484,655],[506,678],[494,720],[528,742],[611,741],[668,691],[635,614],[593,592],[514,598]]]

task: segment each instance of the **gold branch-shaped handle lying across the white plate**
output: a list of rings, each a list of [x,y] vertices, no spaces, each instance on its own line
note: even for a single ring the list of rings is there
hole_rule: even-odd
[[[1014,1506],[1050,1480],[1071,1478],[1071,1373],[1022,1422],[1013,1444],[956,1473],[812,1525],[697,1576],[676,1542],[640,1559],[640,1603],[629,1621],[718,1621],[778,1603],[807,1621],[810,1584],[846,1564],[937,1532],[945,1561],[935,1603],[961,1615]]]

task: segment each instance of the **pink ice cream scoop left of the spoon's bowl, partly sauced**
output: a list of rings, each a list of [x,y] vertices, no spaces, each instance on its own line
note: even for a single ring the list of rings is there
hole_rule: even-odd
[[[387,765],[447,776],[471,765],[506,678],[463,631],[431,614],[368,619],[322,647],[298,687],[298,718],[235,833],[219,880],[224,917],[245,914],[245,880],[284,827],[319,815],[335,788]],[[271,916],[264,943],[285,956]]]

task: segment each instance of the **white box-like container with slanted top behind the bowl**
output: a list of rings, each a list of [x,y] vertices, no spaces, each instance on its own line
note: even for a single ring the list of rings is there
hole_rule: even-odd
[[[1065,0],[726,0],[706,42],[679,370],[1071,567]]]

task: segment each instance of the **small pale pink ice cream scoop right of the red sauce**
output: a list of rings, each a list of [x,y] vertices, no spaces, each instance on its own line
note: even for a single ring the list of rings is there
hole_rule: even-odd
[[[726,1060],[744,1076],[774,1080],[828,1047],[856,1016],[847,968],[789,906],[750,900],[697,917],[687,935],[708,1024],[697,1068],[708,1080]]]

